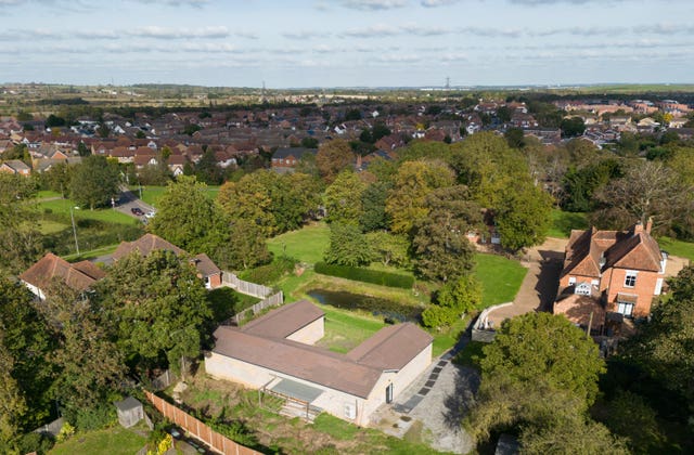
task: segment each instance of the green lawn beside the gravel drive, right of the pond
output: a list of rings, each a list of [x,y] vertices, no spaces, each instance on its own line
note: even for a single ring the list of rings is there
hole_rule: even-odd
[[[475,276],[481,282],[481,309],[512,301],[528,272],[518,261],[496,255],[477,253]]]

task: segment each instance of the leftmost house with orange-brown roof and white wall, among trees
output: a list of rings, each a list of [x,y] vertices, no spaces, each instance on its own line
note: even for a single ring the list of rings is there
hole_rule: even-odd
[[[20,280],[38,299],[44,300],[46,290],[53,280],[62,281],[74,290],[83,291],[104,276],[106,273],[89,261],[72,264],[49,252],[21,274]]]

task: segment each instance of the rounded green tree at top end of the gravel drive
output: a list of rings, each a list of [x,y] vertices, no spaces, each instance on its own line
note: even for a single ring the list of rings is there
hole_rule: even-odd
[[[501,245],[512,251],[544,242],[550,227],[552,198],[531,184],[509,188],[494,214]]]

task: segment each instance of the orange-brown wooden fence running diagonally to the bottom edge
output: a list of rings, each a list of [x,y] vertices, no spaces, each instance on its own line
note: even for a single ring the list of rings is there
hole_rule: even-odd
[[[213,451],[224,455],[261,455],[260,452],[256,452],[253,448],[248,448],[222,434],[219,434],[217,431],[214,431],[204,422],[200,421],[182,410],[174,406],[172,404],[162,400],[154,393],[149,391],[145,391],[144,393],[147,396],[147,400],[152,402],[154,407],[156,407],[164,415],[164,417],[168,418],[196,439],[209,445]]]

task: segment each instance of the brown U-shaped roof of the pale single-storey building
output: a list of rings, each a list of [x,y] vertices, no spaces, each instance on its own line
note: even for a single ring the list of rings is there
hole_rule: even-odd
[[[323,315],[314,304],[300,300],[242,328],[220,326],[213,352],[368,398],[384,372],[401,369],[433,340],[410,323],[382,328],[348,354],[285,338]]]

